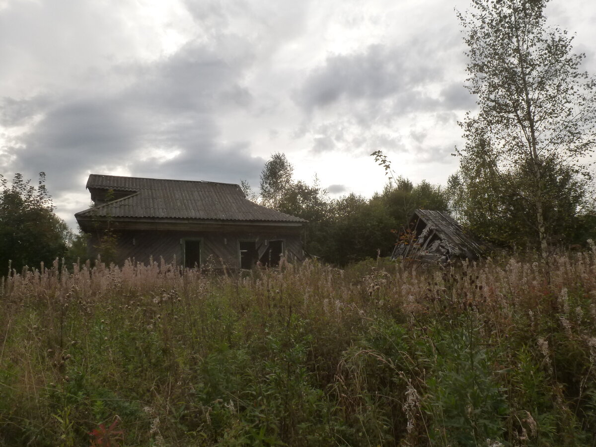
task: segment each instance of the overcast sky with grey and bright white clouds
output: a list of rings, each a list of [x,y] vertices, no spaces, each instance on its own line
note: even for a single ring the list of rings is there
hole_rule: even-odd
[[[89,173],[259,184],[286,154],[332,197],[446,182],[474,97],[457,0],[0,0],[0,173],[46,172],[71,226]],[[553,0],[596,73],[596,3]]]

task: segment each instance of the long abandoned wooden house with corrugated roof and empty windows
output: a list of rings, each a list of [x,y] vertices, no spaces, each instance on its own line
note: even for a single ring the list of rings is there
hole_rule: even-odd
[[[75,217],[90,256],[111,243],[119,264],[161,256],[188,268],[249,269],[304,258],[307,222],[247,200],[238,185],[91,174],[86,188],[94,206]]]

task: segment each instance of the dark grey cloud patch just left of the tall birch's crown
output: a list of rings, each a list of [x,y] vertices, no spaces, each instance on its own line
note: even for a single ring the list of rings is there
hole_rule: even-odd
[[[315,154],[335,150],[368,154],[378,149],[410,153],[403,138],[420,144],[428,131],[403,129],[399,120],[417,122],[420,114],[435,114],[460,101],[454,89],[447,89],[449,96],[443,98],[427,88],[429,83],[445,83],[443,68],[436,63],[443,45],[440,40],[378,44],[327,57],[294,92],[294,102],[306,115],[296,135],[311,135]]]

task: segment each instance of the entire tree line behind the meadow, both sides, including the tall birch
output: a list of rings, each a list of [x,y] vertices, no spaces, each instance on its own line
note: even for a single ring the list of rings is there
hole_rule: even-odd
[[[388,256],[417,208],[451,212],[462,225],[504,249],[537,250],[547,257],[560,247],[596,237],[596,204],[589,157],[596,145],[596,78],[581,70],[573,36],[547,24],[548,0],[474,0],[458,12],[467,45],[465,87],[476,110],[460,123],[460,168],[446,186],[395,177],[381,151],[372,155],[389,175],[371,198],[331,199],[318,181],[293,177],[283,153],[266,162],[259,194],[250,200],[309,221],[305,249],[345,265]],[[0,176],[0,272],[80,253],[54,213],[45,189],[17,174]]]

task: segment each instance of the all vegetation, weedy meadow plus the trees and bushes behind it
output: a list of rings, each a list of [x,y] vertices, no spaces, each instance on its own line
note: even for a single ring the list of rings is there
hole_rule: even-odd
[[[558,248],[596,231],[595,84],[546,4],[460,14],[480,109],[447,188],[330,200],[281,153],[259,197],[243,182],[308,219],[307,250],[334,265],[44,268],[70,236],[43,178],[0,176],[0,446],[596,445],[596,247]],[[526,251],[371,260],[417,207]]]

